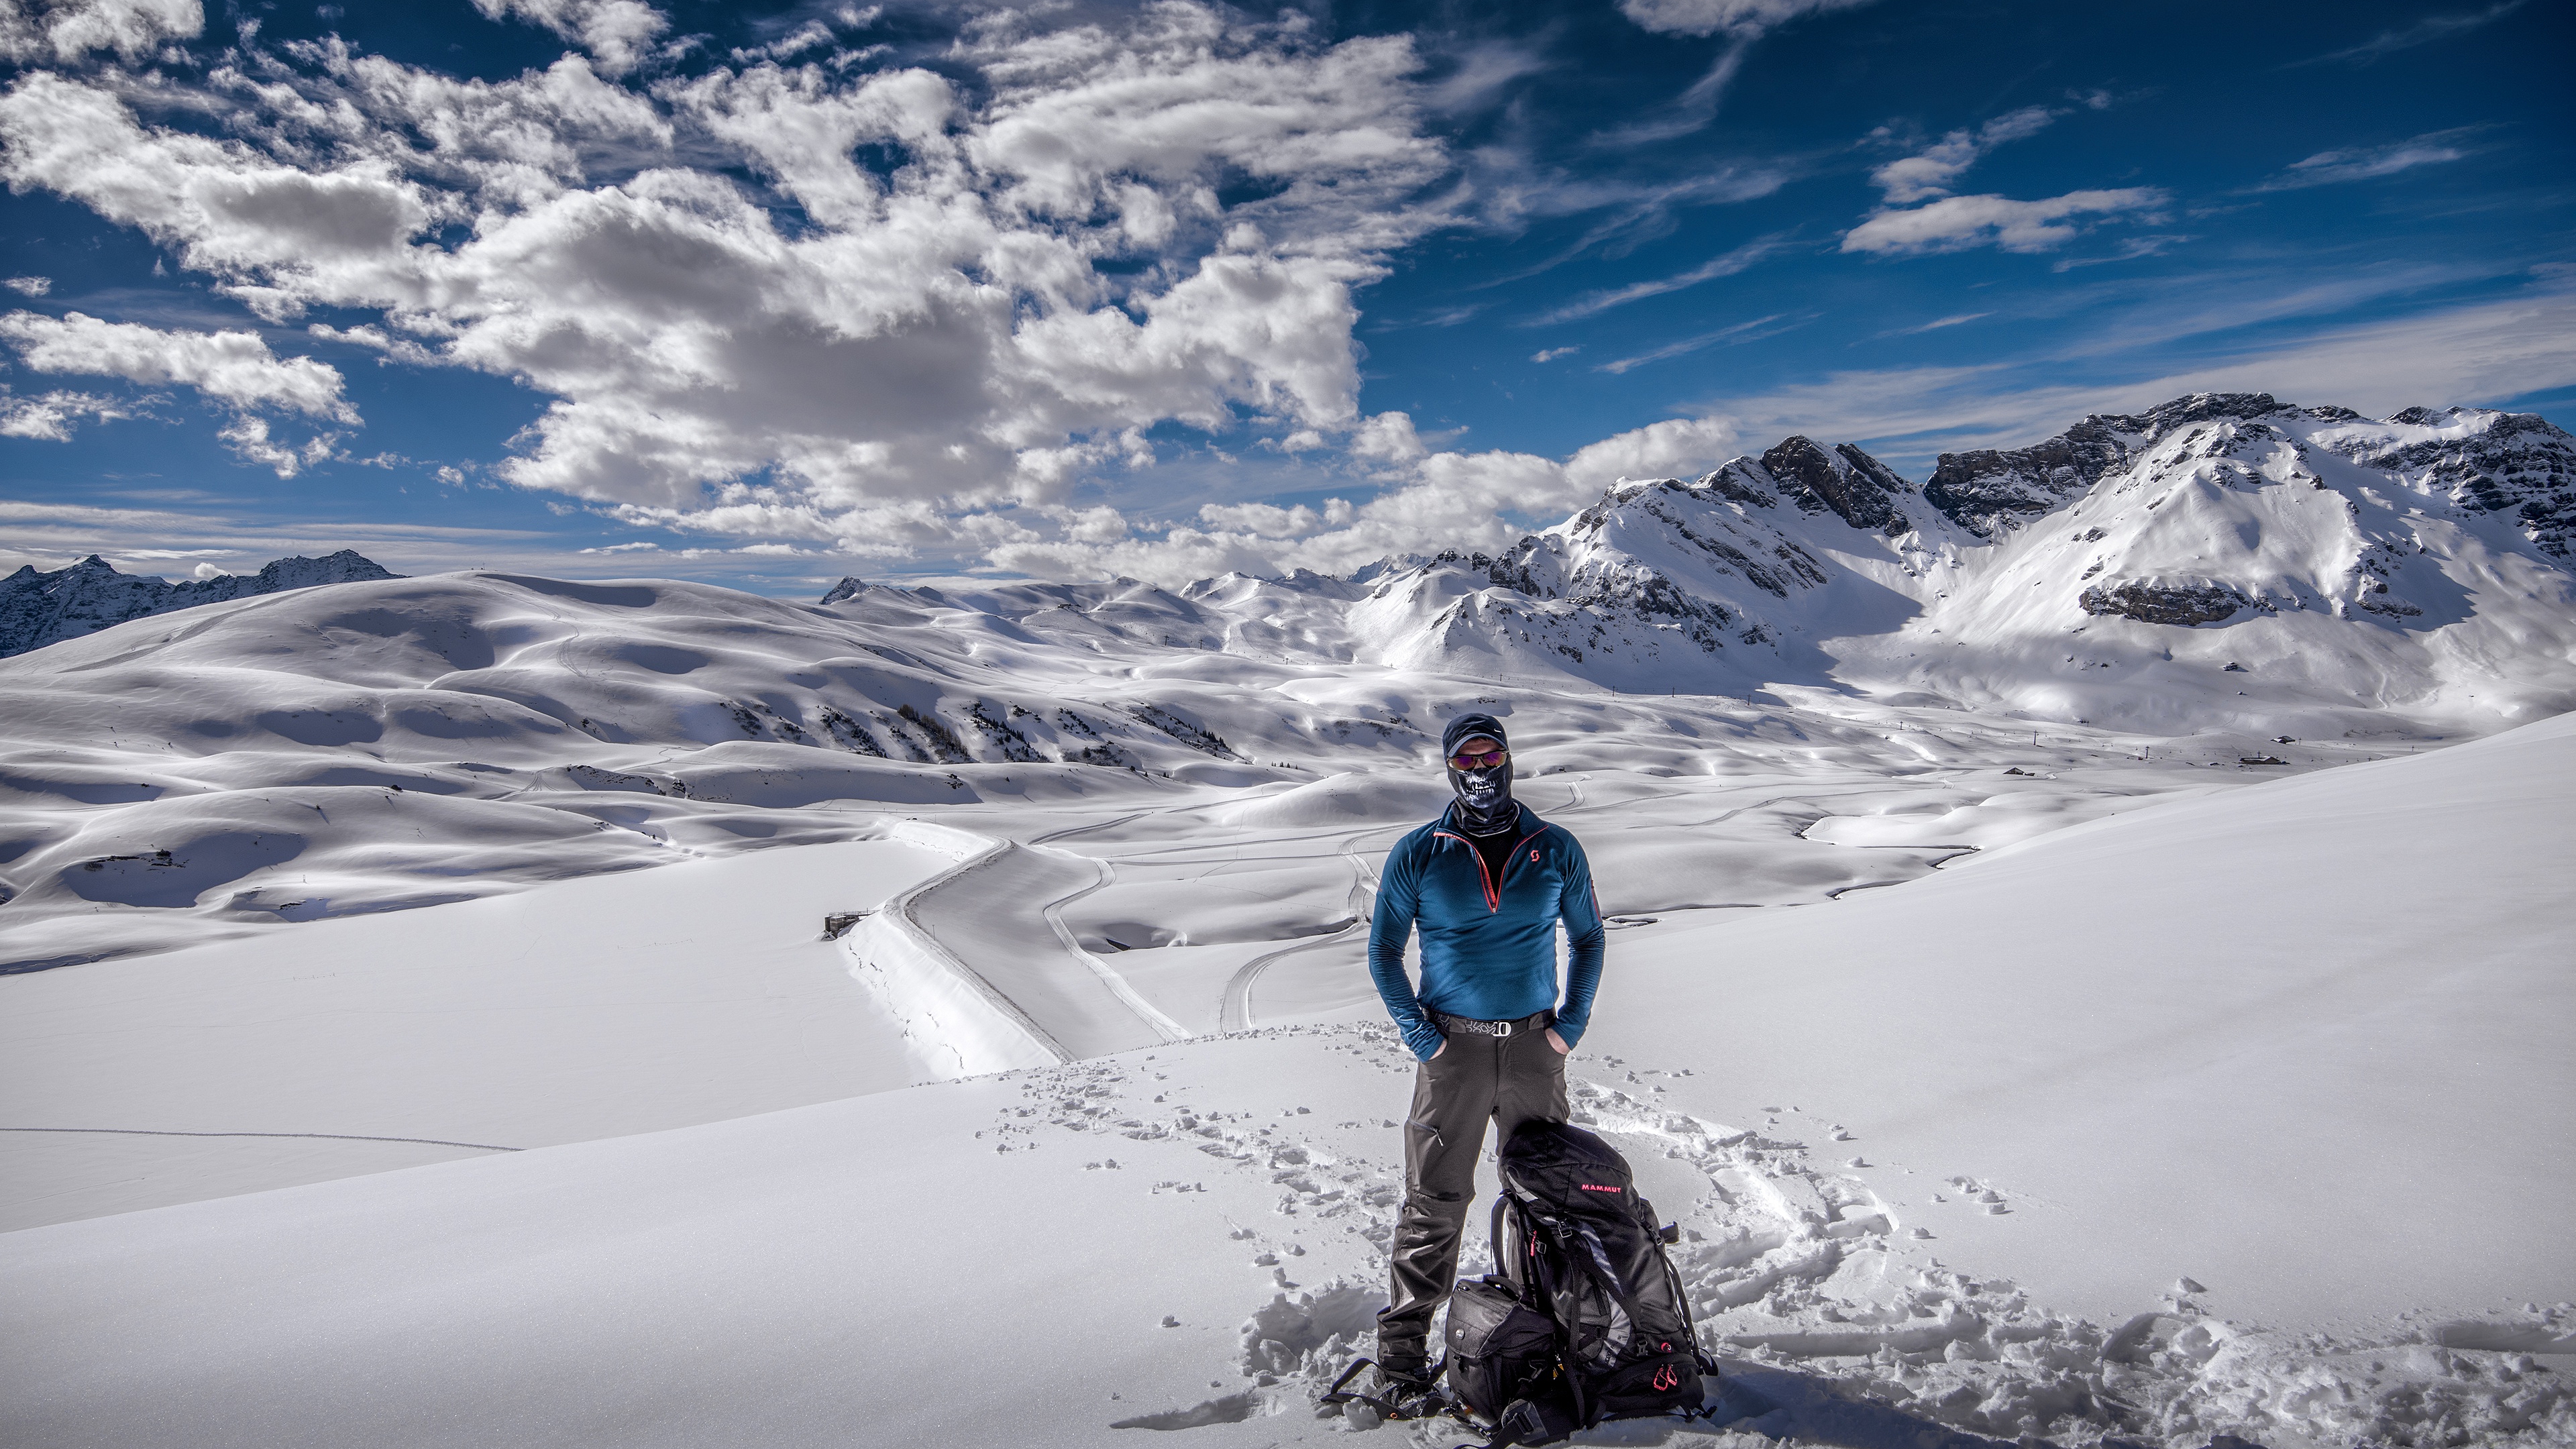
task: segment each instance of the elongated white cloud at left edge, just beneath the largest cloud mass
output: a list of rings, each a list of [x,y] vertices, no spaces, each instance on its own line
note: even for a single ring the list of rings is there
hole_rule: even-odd
[[[314,358],[278,358],[258,333],[165,333],[137,322],[100,322],[82,312],[59,320],[36,312],[0,317],[0,340],[33,371],[121,376],[142,384],[178,382],[234,407],[276,407],[355,423],[340,397],[340,369]]]

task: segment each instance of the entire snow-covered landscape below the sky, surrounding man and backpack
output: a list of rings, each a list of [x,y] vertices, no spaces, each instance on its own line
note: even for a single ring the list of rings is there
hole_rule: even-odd
[[[1340,580],[36,647],[0,1436],[1450,1444],[1314,1395],[1401,1191],[1376,874],[1476,709],[1726,1366],[1597,1441],[2576,1441],[2571,518],[2537,418],[2197,394]]]

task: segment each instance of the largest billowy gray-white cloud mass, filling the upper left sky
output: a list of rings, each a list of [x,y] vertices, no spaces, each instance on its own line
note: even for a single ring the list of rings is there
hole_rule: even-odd
[[[0,93],[0,175],[270,320],[374,312],[330,335],[549,394],[515,485],[871,547],[889,505],[1054,503],[1162,423],[1352,428],[1352,289],[1453,219],[1406,39],[989,13],[951,49],[971,85],[765,59],[641,88],[603,72],[657,15],[484,8],[590,54],[479,83],[294,44],[211,77],[224,137],[36,72]]]

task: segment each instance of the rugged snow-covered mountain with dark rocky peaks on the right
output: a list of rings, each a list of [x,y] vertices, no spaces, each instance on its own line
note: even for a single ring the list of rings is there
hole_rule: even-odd
[[[1499,557],[1378,575],[1352,624],[1386,663],[1636,691],[2517,719],[2576,706],[2571,518],[2576,438],[2535,415],[2192,394],[1945,454],[1922,487],[1808,438],[1620,482]]]

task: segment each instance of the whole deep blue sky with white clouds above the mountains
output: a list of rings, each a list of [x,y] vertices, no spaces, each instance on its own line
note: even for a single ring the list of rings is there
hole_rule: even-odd
[[[2576,400],[2566,8],[75,0],[0,567],[1188,580],[1785,433]]]

